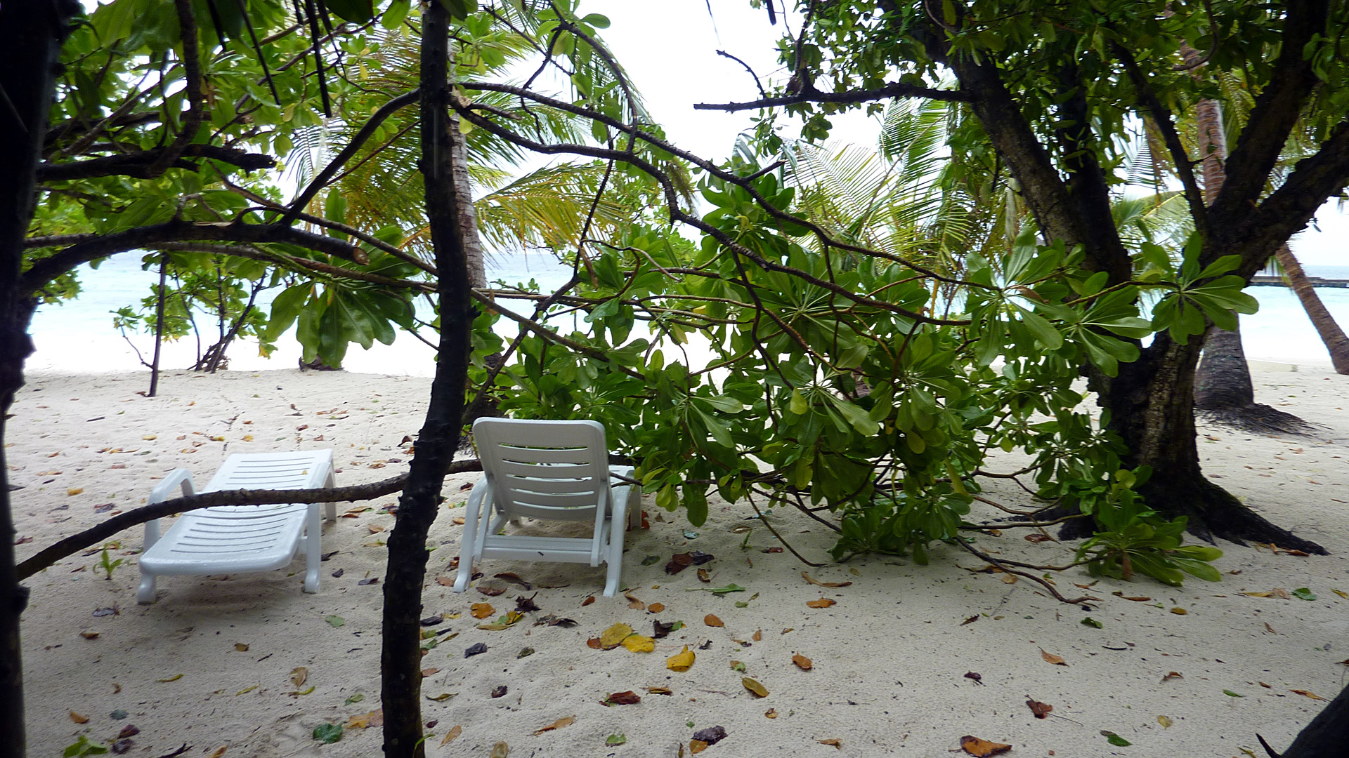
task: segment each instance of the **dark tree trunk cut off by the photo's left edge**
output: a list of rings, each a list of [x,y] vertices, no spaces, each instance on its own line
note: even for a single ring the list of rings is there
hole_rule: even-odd
[[[0,753],[5,755],[23,755],[27,745],[19,616],[28,592],[15,573],[4,419],[23,386],[23,361],[32,352],[32,301],[19,294],[23,237],[36,201],[61,42],[78,9],[70,0],[0,4],[0,93],[5,98],[0,104]]]

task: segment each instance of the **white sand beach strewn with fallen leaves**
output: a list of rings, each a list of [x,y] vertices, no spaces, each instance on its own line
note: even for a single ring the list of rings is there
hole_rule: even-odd
[[[1261,402],[1326,432],[1273,438],[1206,428],[1205,469],[1331,556],[1273,556],[1224,544],[1221,584],[1193,580],[1174,589],[1145,577],[1103,580],[1089,591],[1101,597],[1091,611],[1058,603],[1027,580],[1009,585],[998,575],[970,573],[960,566],[978,561],[950,546],[938,546],[929,566],[873,556],[809,569],[822,581],[853,583],[812,587],[800,576],[807,566],[791,553],[761,552],[777,542],[745,521],[747,506],[714,500],[708,523],[687,540],[681,517],[657,521],[648,500],[652,529],[629,534],[625,580],[635,597],[665,604],[662,612],[630,608],[623,597],[583,607],[602,589],[603,568],[494,561],[483,565],[488,577],[514,571],[537,584],[565,587],[538,591],[541,612],[505,631],[484,631],[469,618],[469,604],[490,602],[499,615],[522,592],[455,595],[434,583],[451,573],[449,558],[457,554],[460,527],[451,519],[461,511],[447,510],[432,529],[441,549],[429,568],[425,615],[461,615],[438,627],[459,634],[425,657],[426,668],[438,670],[424,693],[456,696],[424,700],[425,719],[436,722],[428,753],[486,755],[505,740],[513,757],[673,757],[695,730],[718,724],[728,736],[706,755],[936,757],[959,749],[966,734],[1012,743],[1012,755],[1263,754],[1256,731],[1283,749],[1323,705],[1291,691],[1329,699],[1345,681],[1346,666],[1337,661],[1349,658],[1349,600],[1331,589],[1349,592],[1349,378],[1300,366],[1255,379]],[[135,394],[147,382],[144,374],[30,376],[7,442],[11,482],[24,487],[12,492],[18,530],[32,538],[18,548],[20,558],[140,504],[155,477],[175,467],[190,468],[202,483],[231,452],[331,446],[339,483],[389,476],[406,465],[399,442],[415,436],[429,386],[426,379],[349,374],[171,372],[161,397],[147,399]],[[451,479],[447,496],[461,500],[460,487],[475,477]],[[992,495],[1029,504],[1014,487],[996,484]],[[113,507],[96,513],[107,503]],[[93,572],[97,556],[71,557],[32,577],[23,618],[30,755],[59,755],[81,734],[108,740],[127,724],[140,730],[131,738],[131,755],[158,757],[185,742],[193,746],[186,755],[198,757],[220,747],[233,757],[378,754],[378,728],[351,728],[341,742],[322,746],[310,732],[379,707],[382,584],[357,581],[383,576],[386,549],[374,545],[383,534],[371,530],[393,523],[391,515],[371,510],[325,526],[324,550],[337,553],[324,564],[317,595],[299,592],[302,562],[295,562],[267,575],[165,577],[161,600],[138,606],[139,529],[120,535],[116,554],[125,562],[111,581]],[[742,550],[743,535],[733,527],[746,523],[754,525],[751,548]],[[795,511],[778,513],[774,523],[804,554],[827,558],[832,541],[823,527]],[[1021,531],[981,537],[978,545],[1035,562],[1071,560],[1071,545],[1032,545]],[[707,566],[712,584],[701,584],[693,569],[665,575],[670,553],[689,549],[716,556]],[[648,556],[660,561],[643,566]],[[337,571],[343,573],[333,579]],[[1067,595],[1081,592],[1072,583],[1091,581],[1085,569],[1054,579]],[[691,592],[727,583],[747,591],[724,597]],[[1240,593],[1299,587],[1317,599]],[[1130,602],[1114,591],[1152,600]],[[822,596],[838,604],[805,606]],[[93,615],[108,607],[120,612]],[[1172,614],[1176,607],[1188,612]],[[542,614],[579,624],[532,626]],[[707,614],[720,616],[724,629],[706,626]],[[333,615],[345,624],[325,622]],[[1089,615],[1103,629],[1079,623]],[[962,626],[970,616],[978,620]],[[687,627],[648,654],[585,645],[615,622],[650,634],[653,618],[683,619]],[[98,634],[86,639],[82,631]],[[666,670],[668,655],[704,641],[711,647],[696,650],[692,669]],[[476,642],[486,642],[488,653],[465,660],[464,649]],[[237,650],[239,643],[247,650]],[[526,646],[536,653],[517,658]],[[1040,649],[1062,655],[1067,666],[1045,662]],[[811,658],[813,670],[797,669],[793,653]],[[766,685],[766,699],[742,688],[734,660],[745,664],[743,676]],[[298,688],[313,687],[306,695],[291,695],[297,666],[308,668]],[[965,678],[966,672],[978,672],[983,684]],[[1163,682],[1168,672],[1183,678]],[[498,685],[509,693],[491,699]],[[643,687],[668,687],[673,695],[650,695]],[[600,704],[627,689],[642,701]],[[347,703],[357,695],[364,699]],[[1054,705],[1052,716],[1035,719],[1027,696]],[[765,718],[770,708],[776,719]],[[128,716],[111,718],[116,709]],[[71,711],[88,723],[74,723]],[[575,723],[532,734],[564,716]],[[1172,726],[1163,728],[1159,716]],[[461,736],[441,747],[456,724]],[[1101,730],[1133,746],[1113,747]],[[625,734],[626,745],[606,747],[611,734]],[[820,739],[838,739],[840,749]]]

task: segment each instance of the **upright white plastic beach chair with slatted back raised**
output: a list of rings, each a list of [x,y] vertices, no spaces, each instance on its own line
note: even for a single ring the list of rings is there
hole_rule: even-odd
[[[606,562],[604,596],[612,597],[623,566],[625,521],[641,526],[642,491],[610,476],[631,476],[633,468],[610,468],[604,428],[595,421],[479,418],[473,440],[483,477],[468,495],[455,592],[468,589],[473,561],[486,557]],[[499,534],[506,521],[518,523],[521,517],[587,521],[595,531],[590,540]]]

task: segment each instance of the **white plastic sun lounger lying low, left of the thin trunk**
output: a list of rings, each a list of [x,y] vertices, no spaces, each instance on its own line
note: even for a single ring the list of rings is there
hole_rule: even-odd
[[[293,453],[235,453],[210,477],[202,492],[220,490],[312,490],[333,487],[332,450]],[[150,494],[148,504],[197,492],[192,472],[174,469]],[[328,519],[337,507],[326,503]],[[277,506],[214,506],[188,511],[159,537],[159,519],[146,522],[146,549],[140,556],[136,600],[155,602],[161,575],[247,573],[290,565],[305,549],[305,592],[318,592],[321,560],[318,503]]]

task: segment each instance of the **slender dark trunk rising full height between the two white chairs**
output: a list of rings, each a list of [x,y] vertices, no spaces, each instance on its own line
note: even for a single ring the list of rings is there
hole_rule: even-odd
[[[468,383],[473,309],[455,197],[448,70],[449,15],[442,4],[430,3],[422,13],[421,171],[438,270],[441,332],[430,407],[417,437],[417,455],[398,503],[398,521],[389,537],[380,655],[387,758],[425,755],[421,740],[420,619],[422,583],[426,577],[426,535],[440,507],[445,471],[459,445]]]

